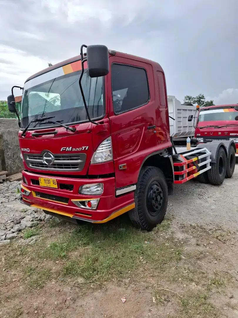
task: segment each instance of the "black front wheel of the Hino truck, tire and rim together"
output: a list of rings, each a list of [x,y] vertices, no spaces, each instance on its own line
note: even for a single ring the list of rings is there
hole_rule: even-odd
[[[133,225],[150,231],[161,223],[168,204],[168,186],[161,169],[142,168],[135,191],[135,209],[129,211]]]

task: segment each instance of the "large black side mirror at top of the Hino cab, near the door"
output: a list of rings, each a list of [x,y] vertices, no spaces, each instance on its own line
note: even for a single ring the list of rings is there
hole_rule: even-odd
[[[90,77],[101,77],[109,73],[108,48],[105,45],[87,47],[87,65]]]

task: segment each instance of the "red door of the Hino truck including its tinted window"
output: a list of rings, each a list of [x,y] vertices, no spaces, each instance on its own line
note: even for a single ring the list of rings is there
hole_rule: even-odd
[[[155,92],[149,85],[150,65],[116,56],[109,61],[109,119],[118,189],[134,183],[142,158],[156,148]],[[124,164],[126,169],[120,167]]]

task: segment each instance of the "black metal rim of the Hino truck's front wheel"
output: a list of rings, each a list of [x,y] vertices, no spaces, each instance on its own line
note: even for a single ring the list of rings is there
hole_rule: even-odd
[[[151,216],[159,214],[163,203],[163,190],[157,181],[151,183],[147,192],[147,208]]]

